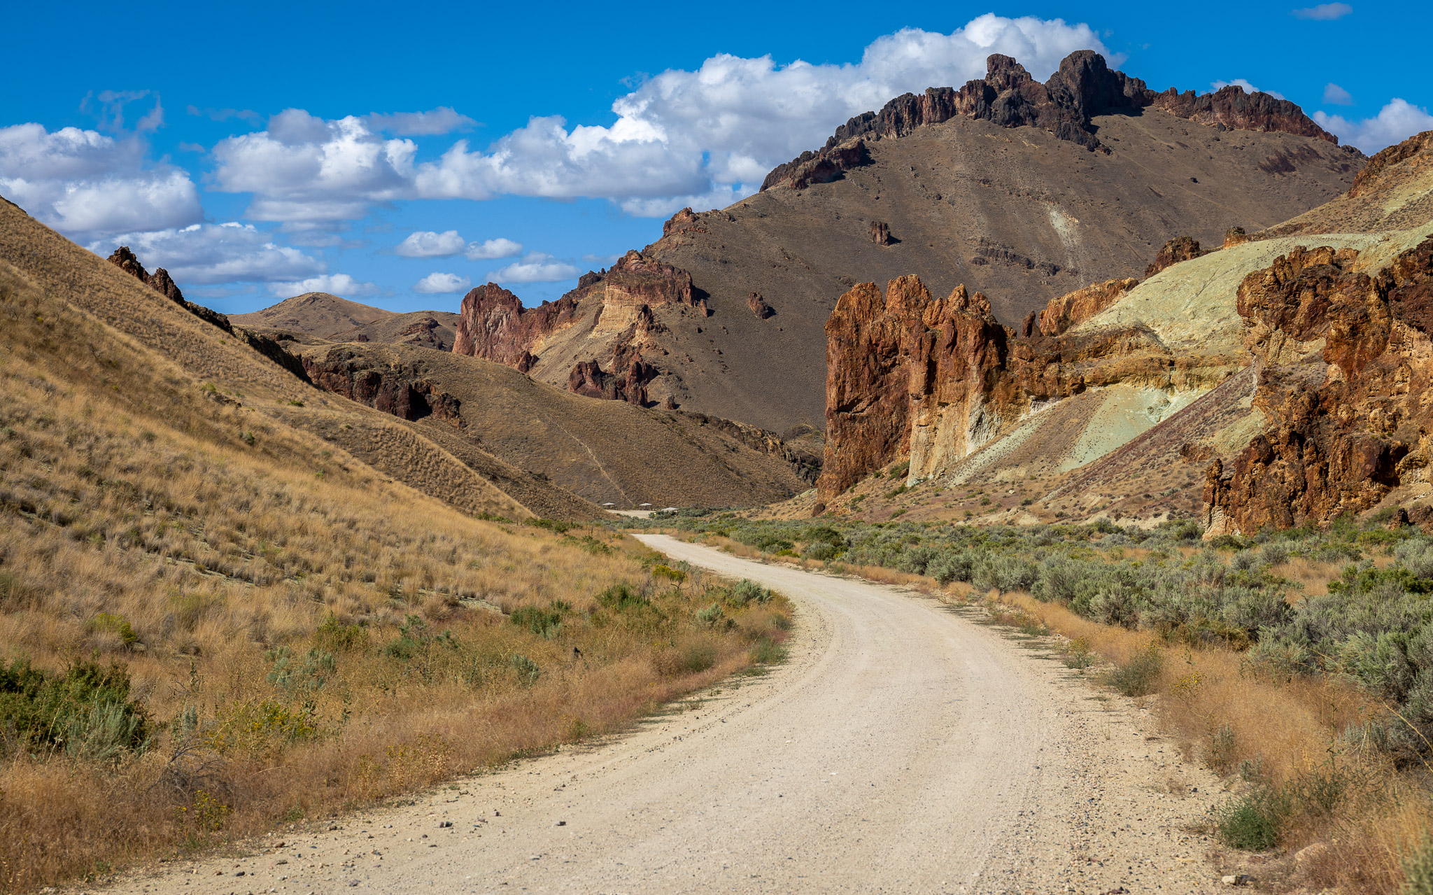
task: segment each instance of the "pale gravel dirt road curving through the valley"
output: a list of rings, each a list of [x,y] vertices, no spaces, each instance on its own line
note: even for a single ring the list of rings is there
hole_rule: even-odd
[[[642,540],[787,594],[791,660],[598,746],[115,891],[1218,888],[1187,832],[1215,782],[1139,709],[931,599]]]

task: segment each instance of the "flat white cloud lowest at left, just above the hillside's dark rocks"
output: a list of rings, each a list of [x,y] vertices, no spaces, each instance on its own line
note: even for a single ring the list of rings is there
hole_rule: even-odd
[[[95,241],[89,249],[109,255],[128,245],[149,269],[165,268],[179,288],[189,284],[272,282],[327,271],[322,259],[277,245],[246,223],[193,223],[186,228],[119,233]]]

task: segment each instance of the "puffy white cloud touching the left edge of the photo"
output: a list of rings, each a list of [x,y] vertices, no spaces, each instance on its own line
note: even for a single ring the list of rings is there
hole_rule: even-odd
[[[0,127],[0,193],[73,236],[185,226],[203,218],[189,175],[145,166],[139,136],[42,125]]]

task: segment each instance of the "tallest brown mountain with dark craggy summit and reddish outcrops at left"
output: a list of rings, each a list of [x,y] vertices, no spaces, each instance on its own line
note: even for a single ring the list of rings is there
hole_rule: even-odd
[[[1139,276],[1175,236],[1218,245],[1321,205],[1361,165],[1265,93],[1155,93],[1093,53],[1042,84],[993,56],[982,80],[851,119],[761,193],[675,215],[613,268],[668,278],[653,301],[585,279],[517,325],[492,316],[514,302],[470,295],[487,326],[477,351],[583,394],[820,425],[823,325],[858,282],[963,284],[1019,326],[1052,298]]]

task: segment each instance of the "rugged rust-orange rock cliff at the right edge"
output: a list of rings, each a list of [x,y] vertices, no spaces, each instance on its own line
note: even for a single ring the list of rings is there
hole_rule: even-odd
[[[1426,480],[1433,238],[1376,276],[1351,249],[1298,248],[1240,285],[1264,432],[1209,467],[1208,531],[1326,521]]]

